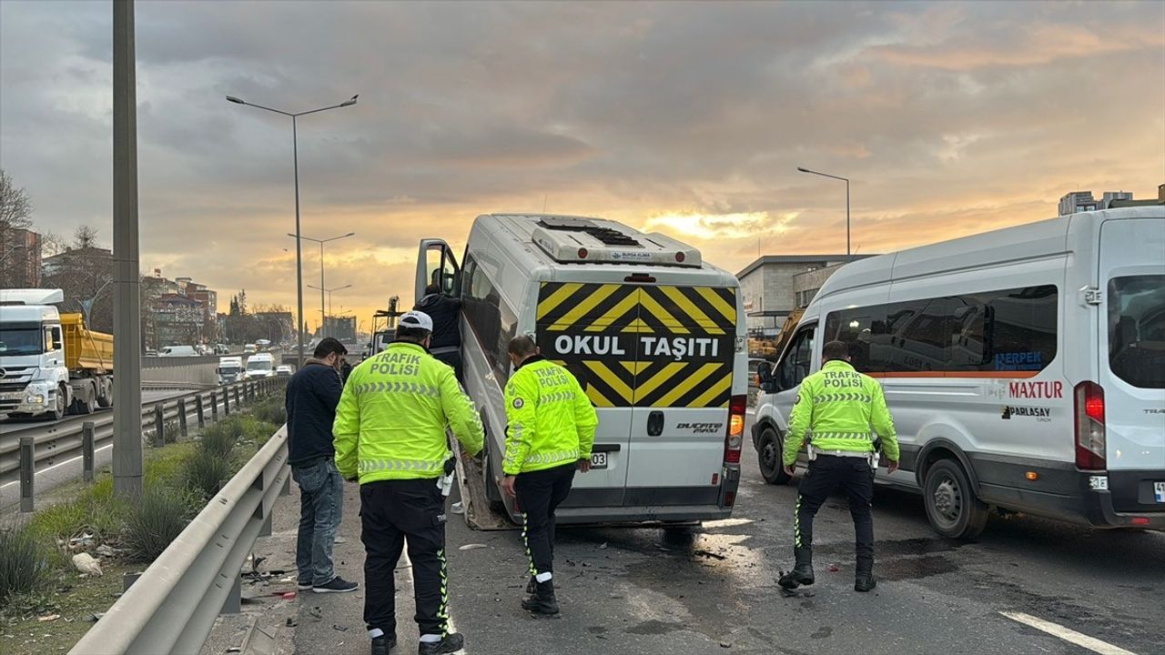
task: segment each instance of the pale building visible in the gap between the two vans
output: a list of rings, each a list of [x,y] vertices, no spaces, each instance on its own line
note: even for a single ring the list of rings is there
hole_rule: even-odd
[[[850,259],[874,255],[764,255],[736,274],[744,302],[748,333],[751,337],[775,337],[793,309],[805,307],[821,288],[817,277],[797,276],[828,269],[829,273]],[[828,274],[818,274],[821,282]]]

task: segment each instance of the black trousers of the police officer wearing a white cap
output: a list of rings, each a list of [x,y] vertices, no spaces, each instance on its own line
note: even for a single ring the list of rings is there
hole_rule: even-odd
[[[360,540],[365,544],[365,622],[396,633],[393,578],[405,543],[412,562],[421,634],[449,628],[445,572],[445,496],[437,479],[380,480],[360,486]]]

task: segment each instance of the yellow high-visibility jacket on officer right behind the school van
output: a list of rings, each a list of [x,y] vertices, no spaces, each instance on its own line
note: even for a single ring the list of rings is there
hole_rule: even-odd
[[[589,459],[599,415],[566,368],[541,355],[525,360],[506,385],[507,476]]]

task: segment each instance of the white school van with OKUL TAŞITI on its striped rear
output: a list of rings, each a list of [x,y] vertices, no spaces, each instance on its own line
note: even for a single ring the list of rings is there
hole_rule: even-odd
[[[563,522],[722,519],[740,478],[748,366],[739,282],[663,234],[599,218],[479,216],[464,268],[421,242],[416,295],[438,282],[463,301],[467,390],[487,432],[487,495],[506,442],[507,346],[532,334],[598,408],[592,470]]]

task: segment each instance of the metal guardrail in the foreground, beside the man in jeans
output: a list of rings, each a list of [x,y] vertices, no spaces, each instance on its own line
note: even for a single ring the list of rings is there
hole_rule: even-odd
[[[287,428],[223,487],[70,650],[198,655],[290,478]]]

